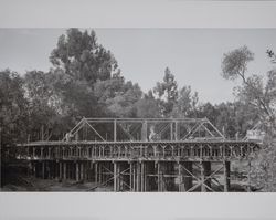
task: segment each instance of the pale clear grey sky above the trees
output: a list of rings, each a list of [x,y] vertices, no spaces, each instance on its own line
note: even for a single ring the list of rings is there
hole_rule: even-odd
[[[65,29],[0,29],[0,70],[47,71],[49,55],[62,33]],[[145,92],[169,66],[179,87],[191,85],[201,102],[213,104],[234,98],[235,83],[220,75],[223,53],[247,45],[255,54],[250,72],[264,74],[273,67],[266,50],[276,51],[276,29],[96,29],[96,34],[126,80]]]

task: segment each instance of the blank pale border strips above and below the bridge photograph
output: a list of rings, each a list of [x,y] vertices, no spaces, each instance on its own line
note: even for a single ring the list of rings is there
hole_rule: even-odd
[[[275,29],[275,14],[276,1],[0,0],[0,28]],[[276,219],[275,203],[275,193],[1,192],[0,219]]]

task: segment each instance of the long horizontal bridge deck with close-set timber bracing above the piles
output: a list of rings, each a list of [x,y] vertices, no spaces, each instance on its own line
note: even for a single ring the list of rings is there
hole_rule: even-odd
[[[259,145],[245,140],[35,142],[20,144],[18,158],[30,160],[221,161],[254,157]]]

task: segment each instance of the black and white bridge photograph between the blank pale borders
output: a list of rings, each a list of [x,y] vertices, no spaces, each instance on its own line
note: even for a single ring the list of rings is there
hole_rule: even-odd
[[[0,29],[1,191],[275,191],[275,39]]]

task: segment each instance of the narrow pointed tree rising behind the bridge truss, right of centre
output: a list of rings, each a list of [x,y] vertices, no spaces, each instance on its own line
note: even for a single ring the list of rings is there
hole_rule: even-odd
[[[173,109],[173,105],[178,99],[178,84],[169,67],[166,67],[163,82],[157,83],[156,87],[153,88],[153,94],[159,101],[161,115],[168,116]]]

